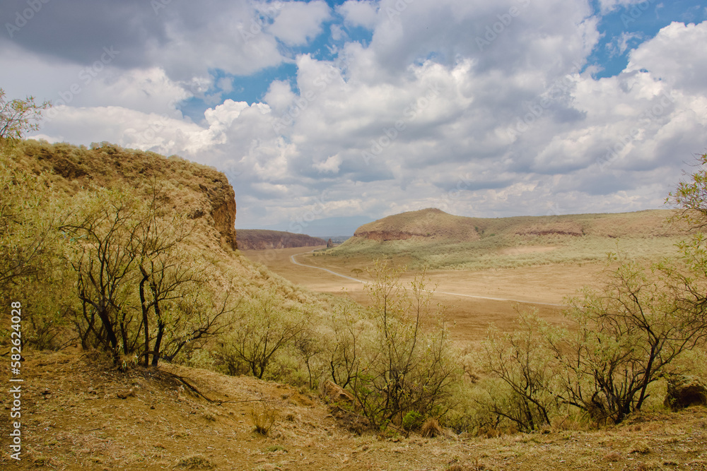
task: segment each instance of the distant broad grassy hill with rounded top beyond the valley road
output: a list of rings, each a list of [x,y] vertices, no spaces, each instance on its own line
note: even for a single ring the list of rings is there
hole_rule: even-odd
[[[317,256],[396,258],[413,268],[458,270],[600,261],[617,248],[655,259],[672,256],[684,237],[667,222],[670,215],[672,210],[480,218],[429,208],[363,225]]]

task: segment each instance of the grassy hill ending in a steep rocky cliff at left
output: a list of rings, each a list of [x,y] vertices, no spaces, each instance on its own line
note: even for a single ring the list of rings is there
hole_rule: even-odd
[[[226,176],[212,167],[177,156],[165,157],[120,148],[110,143],[86,148],[67,143],[21,141],[11,150],[5,150],[2,157],[9,189],[13,188],[13,179],[37,179],[32,191],[41,194],[25,195],[32,200],[27,203],[26,209],[40,218],[40,222],[33,222],[32,227],[46,229],[42,237],[52,242],[52,254],[49,254],[48,249],[35,251],[35,259],[40,258],[37,267],[27,275],[27,289],[40,290],[37,295],[27,297],[26,292],[18,291],[18,283],[3,285],[2,294],[7,297],[22,294],[25,297],[23,304],[36,313],[62,313],[60,318],[50,318],[49,314],[47,318],[33,318],[33,323],[23,333],[26,340],[34,341],[40,335],[45,335],[54,339],[47,340],[45,346],[56,347],[70,341],[72,336],[75,338],[74,326],[82,321],[81,305],[76,300],[76,274],[62,258],[75,246],[66,245],[67,237],[62,232],[64,229],[60,230],[56,226],[75,219],[76,213],[83,210],[82,205],[86,201],[93,201],[91,198],[98,198],[96,195],[103,195],[101,191],[105,190],[129,193],[130,197],[138,201],[149,201],[158,192],[156,205],[168,213],[167,219],[184,218],[183,224],[189,232],[188,237],[180,242],[179,251],[186,262],[179,263],[188,263],[188,266],[184,265],[186,268],[182,273],[194,273],[194,276],[209,279],[209,282],[197,283],[198,291],[194,295],[202,297],[195,298],[194,302],[214,306],[218,304],[218,299],[226,297],[225,290],[230,292],[229,302],[269,292],[292,306],[302,306],[302,309],[315,312],[321,310],[320,297],[292,285],[235,250],[234,191]],[[100,206],[97,205],[98,210]],[[7,207],[4,204],[2,209]],[[106,210],[110,212],[112,209]],[[12,213],[6,215],[3,211],[1,216],[4,222]],[[45,220],[42,221],[42,218]],[[3,237],[11,235],[9,232],[3,233]],[[30,249],[35,249],[35,246],[27,242],[31,242],[35,234],[30,232],[20,236],[23,237],[21,244],[28,244]],[[5,244],[6,240],[2,242]],[[16,242],[8,239],[8,250]],[[7,253],[14,254],[12,251]],[[54,258],[49,260],[50,256]],[[172,263],[177,265],[177,262]],[[197,267],[197,263],[198,269],[189,268]],[[122,308],[129,313],[128,319],[136,318],[140,306],[136,292],[136,273],[134,268],[124,277],[127,280],[125,287],[117,290],[124,298]],[[212,299],[205,297],[204,293],[209,290],[213,293]],[[37,326],[34,326],[35,321]],[[136,328],[136,321],[133,320],[131,326]],[[0,334],[0,340],[6,340],[5,333]]]

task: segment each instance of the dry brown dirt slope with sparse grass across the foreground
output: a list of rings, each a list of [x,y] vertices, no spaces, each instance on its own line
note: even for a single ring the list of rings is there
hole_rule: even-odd
[[[0,420],[3,470],[707,470],[704,407],[598,431],[563,421],[496,438],[355,436],[290,386],[165,365],[219,405],[150,371],[122,374],[76,353],[25,357],[22,460],[9,458],[10,424]],[[8,414],[6,388],[0,400]],[[250,417],[261,400],[279,412],[268,437]]]

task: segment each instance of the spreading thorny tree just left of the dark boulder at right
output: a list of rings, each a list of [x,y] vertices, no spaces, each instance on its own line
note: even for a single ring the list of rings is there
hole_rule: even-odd
[[[641,410],[674,359],[704,340],[704,314],[681,301],[686,293],[674,273],[665,264],[648,271],[621,261],[601,290],[574,301],[576,330],[552,345],[564,371],[562,400],[619,423]]]

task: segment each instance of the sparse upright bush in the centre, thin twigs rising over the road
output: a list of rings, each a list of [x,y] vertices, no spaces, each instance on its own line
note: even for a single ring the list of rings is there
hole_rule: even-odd
[[[366,343],[358,337],[363,344],[360,358],[349,359],[355,366],[346,378],[356,404],[374,427],[387,422],[400,425],[411,412],[420,417],[441,415],[459,371],[442,313],[432,304],[432,292],[423,277],[405,287],[399,280],[402,270],[385,263],[376,263],[369,274],[373,278],[367,286],[373,300],[368,313],[371,335]],[[351,336],[344,345],[355,347],[356,340]]]

